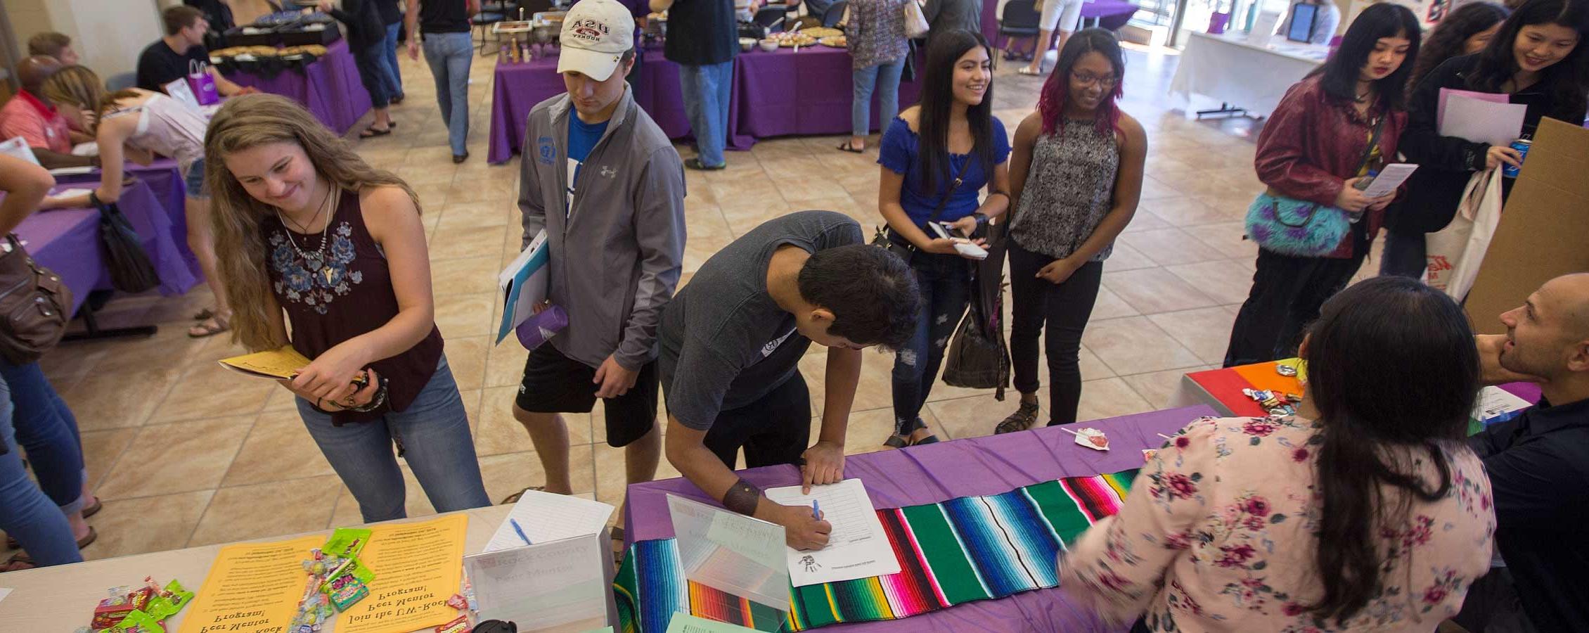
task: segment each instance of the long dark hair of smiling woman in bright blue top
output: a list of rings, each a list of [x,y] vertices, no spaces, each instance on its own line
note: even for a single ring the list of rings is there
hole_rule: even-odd
[[[955,108],[955,62],[972,48],[980,46],[993,59],[982,33],[963,29],[933,35],[926,46],[926,68],[922,72],[922,105],[917,122],[918,161],[922,164],[922,194],[938,196],[941,184],[949,183],[949,119]],[[993,167],[993,80],[982,94],[982,103],[966,108],[971,124],[971,156],[982,161],[982,172]]]

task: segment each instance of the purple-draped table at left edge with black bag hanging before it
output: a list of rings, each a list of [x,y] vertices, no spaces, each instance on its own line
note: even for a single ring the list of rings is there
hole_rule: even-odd
[[[54,191],[81,184],[56,186]],[[188,261],[172,240],[170,218],[145,183],[122,189],[118,200],[121,213],[132,223],[143,242],[143,251],[160,275],[160,294],[183,294],[199,283],[188,270]],[[72,288],[72,312],[94,289],[106,289],[110,270],[105,267],[105,251],[100,247],[99,210],[62,208],[38,212],[16,227],[17,237],[27,242],[33,261],[54,270]]]

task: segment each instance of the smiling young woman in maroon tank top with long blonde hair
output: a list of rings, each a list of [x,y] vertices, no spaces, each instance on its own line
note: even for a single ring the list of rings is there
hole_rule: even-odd
[[[413,189],[276,95],[227,102],[205,161],[234,340],[313,359],[281,385],[364,520],[405,515],[394,444],[437,511],[486,506]]]

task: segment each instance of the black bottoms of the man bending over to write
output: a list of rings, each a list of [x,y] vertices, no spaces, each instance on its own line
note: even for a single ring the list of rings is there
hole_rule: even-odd
[[[717,414],[702,444],[733,471],[740,447],[745,449],[745,468],[793,464],[806,453],[809,441],[810,390],[806,377],[794,372],[761,399]]]

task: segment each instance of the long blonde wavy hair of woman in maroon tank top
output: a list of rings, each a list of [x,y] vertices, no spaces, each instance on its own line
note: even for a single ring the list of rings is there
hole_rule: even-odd
[[[353,148],[331,134],[315,116],[292,100],[273,94],[232,97],[210,119],[205,134],[205,184],[210,188],[210,226],[215,232],[216,267],[232,305],[232,342],[249,351],[286,345],[270,331],[273,305],[270,275],[265,270],[264,221],[276,207],[256,200],[226,169],[226,157],[270,143],[303,148],[315,173],[346,191],[367,186],[402,188],[419,208],[419,196],[397,175],[373,169]]]

